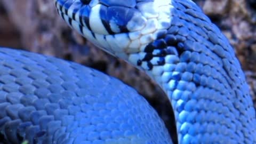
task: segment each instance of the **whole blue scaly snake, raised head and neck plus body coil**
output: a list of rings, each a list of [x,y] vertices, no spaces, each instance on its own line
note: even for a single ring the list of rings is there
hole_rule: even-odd
[[[64,21],[166,93],[178,143],[256,143],[255,109],[226,36],[190,0],[54,0]],[[173,143],[118,79],[74,62],[0,49],[5,143]]]

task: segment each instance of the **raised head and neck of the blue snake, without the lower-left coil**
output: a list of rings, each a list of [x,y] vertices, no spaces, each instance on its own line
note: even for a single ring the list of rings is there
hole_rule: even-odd
[[[179,143],[256,143],[255,109],[233,47],[193,1],[55,5],[70,27],[162,87]]]

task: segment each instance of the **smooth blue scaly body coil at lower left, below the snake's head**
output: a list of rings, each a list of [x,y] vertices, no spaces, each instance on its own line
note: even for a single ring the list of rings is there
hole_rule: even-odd
[[[0,47],[0,96],[0,143],[172,143],[134,89],[73,62]]]

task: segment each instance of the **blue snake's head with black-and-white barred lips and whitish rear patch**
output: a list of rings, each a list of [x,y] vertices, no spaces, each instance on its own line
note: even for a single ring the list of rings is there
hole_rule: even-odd
[[[69,26],[126,61],[170,27],[173,7],[170,0],[55,0],[55,5]]]

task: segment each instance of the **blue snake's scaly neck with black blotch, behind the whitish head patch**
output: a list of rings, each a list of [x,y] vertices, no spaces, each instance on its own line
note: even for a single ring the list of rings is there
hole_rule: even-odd
[[[179,143],[255,143],[255,110],[233,47],[194,3],[189,6],[193,10],[173,9],[170,27],[150,43],[117,57],[162,87]]]

